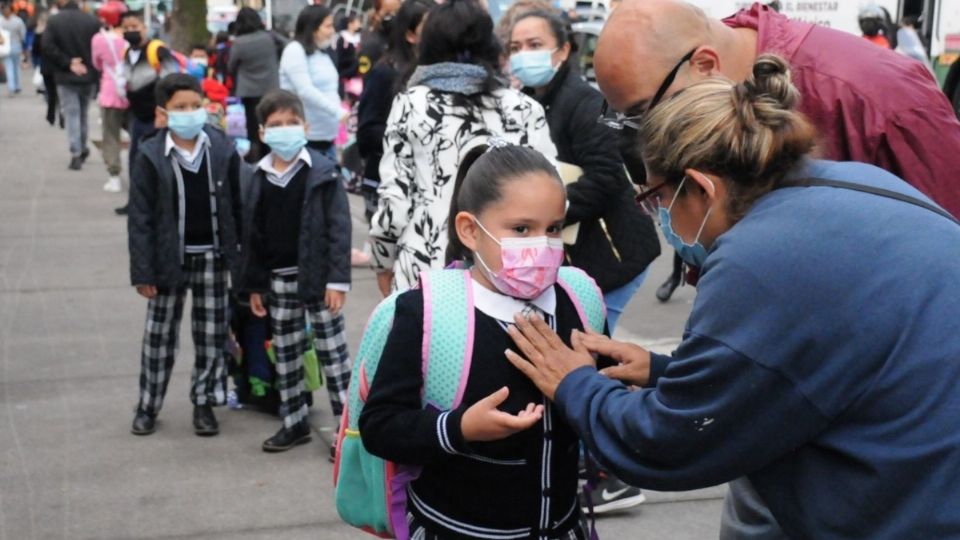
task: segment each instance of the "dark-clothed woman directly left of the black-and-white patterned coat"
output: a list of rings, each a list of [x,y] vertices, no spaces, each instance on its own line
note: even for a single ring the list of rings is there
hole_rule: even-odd
[[[357,148],[363,158],[361,192],[366,203],[367,220],[377,209],[380,186],[380,158],[383,134],[393,98],[403,87],[403,77],[417,61],[417,44],[424,17],[433,0],[406,0],[391,25],[386,54],[367,73],[357,108]]]

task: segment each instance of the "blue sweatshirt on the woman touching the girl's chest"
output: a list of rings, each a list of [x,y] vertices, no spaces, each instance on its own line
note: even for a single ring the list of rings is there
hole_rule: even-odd
[[[930,202],[860,163],[791,177]],[[960,226],[848,189],[773,191],[711,246],[647,388],[586,367],[555,399],[629,483],[747,475],[793,538],[960,538]]]

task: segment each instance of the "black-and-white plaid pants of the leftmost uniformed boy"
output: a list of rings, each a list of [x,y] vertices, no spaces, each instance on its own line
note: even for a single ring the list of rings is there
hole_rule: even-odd
[[[227,269],[210,251],[187,254],[186,283],[157,289],[147,304],[140,368],[140,410],[156,415],[163,406],[179,349],[180,320],[187,291],[193,295],[191,327],[196,359],[190,382],[194,405],[223,405],[227,399],[223,347],[227,340]]]

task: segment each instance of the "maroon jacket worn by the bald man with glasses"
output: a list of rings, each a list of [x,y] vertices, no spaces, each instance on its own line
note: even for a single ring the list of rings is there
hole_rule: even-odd
[[[824,159],[882,167],[960,216],[960,122],[922,64],[760,4],[724,23],[757,30],[758,54],[790,62]]]

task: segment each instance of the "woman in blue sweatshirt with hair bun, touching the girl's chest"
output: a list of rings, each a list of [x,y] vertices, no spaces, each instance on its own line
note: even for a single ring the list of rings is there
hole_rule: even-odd
[[[766,55],[643,121],[639,198],[702,268],[672,356],[522,318],[526,358],[507,356],[639,487],[746,476],[791,538],[960,537],[960,224],[881,169],[813,159],[797,97]]]

